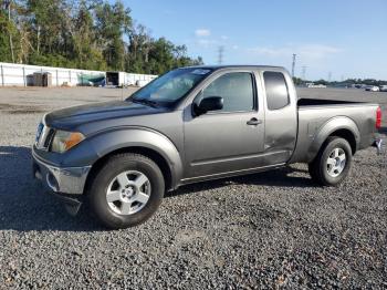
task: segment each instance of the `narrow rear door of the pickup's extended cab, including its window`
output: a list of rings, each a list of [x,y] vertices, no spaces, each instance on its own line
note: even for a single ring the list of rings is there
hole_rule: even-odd
[[[266,165],[286,163],[295,147],[297,134],[296,93],[283,71],[261,73],[265,92],[264,153]]]

